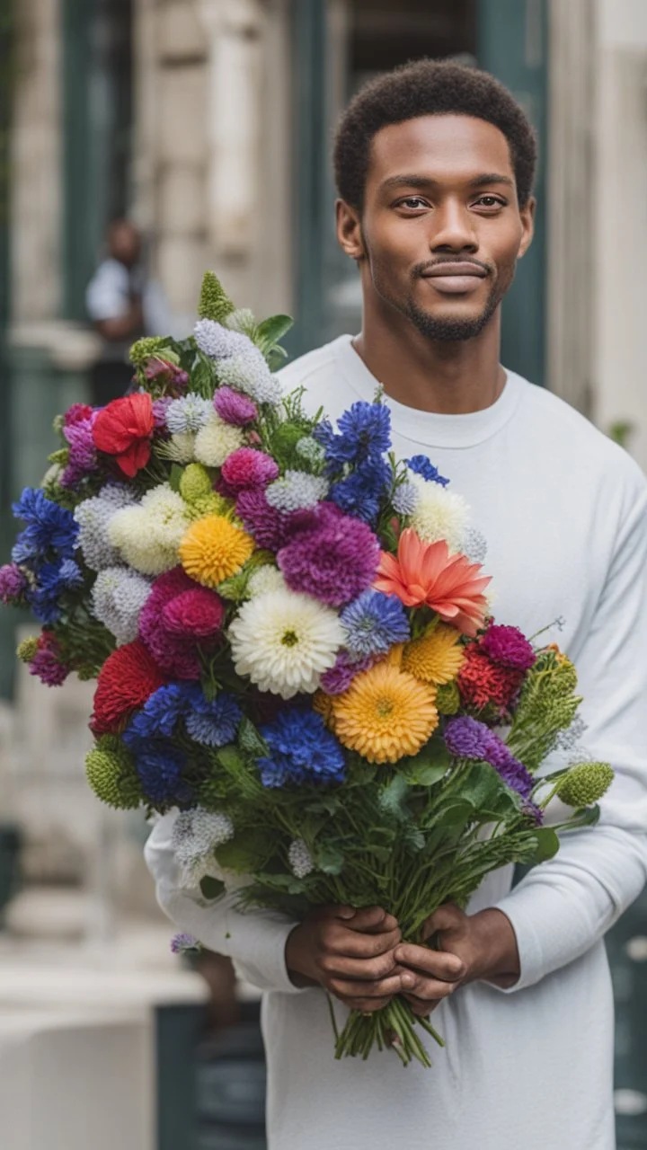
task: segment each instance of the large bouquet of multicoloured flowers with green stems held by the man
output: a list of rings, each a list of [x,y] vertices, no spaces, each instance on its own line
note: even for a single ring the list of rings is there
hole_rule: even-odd
[[[424,941],[504,864],[595,821],[612,772],[543,760],[572,737],[573,665],[489,616],[485,540],[389,409],[336,427],[283,396],[289,319],[257,323],[205,276],[189,339],[132,348],[134,389],[74,405],[0,569],[43,624],[18,656],[50,685],[97,678],[87,779],[121,808],[177,807],[205,898],[294,918],[379,904]],[[333,1013],[334,1020],[334,1013]],[[351,1012],[336,1055],[431,1065],[402,998]]]

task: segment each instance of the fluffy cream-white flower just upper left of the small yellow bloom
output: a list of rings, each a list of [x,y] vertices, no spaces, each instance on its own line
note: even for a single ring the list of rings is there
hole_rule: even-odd
[[[190,522],[182,497],[161,483],[136,507],[124,507],[113,516],[108,538],[135,570],[161,575],[177,564],[177,549]]]

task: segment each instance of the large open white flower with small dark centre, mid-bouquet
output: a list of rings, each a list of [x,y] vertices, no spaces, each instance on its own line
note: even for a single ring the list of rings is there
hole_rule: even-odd
[[[268,591],[243,604],[229,639],[238,675],[249,675],[261,691],[291,699],[299,691],[314,693],[335,662],[344,629],[317,599]]]

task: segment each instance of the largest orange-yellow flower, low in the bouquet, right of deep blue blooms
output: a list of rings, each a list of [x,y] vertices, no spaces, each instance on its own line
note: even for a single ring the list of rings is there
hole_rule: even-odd
[[[368,762],[416,754],[437,727],[435,687],[380,662],[333,699],[335,735]]]

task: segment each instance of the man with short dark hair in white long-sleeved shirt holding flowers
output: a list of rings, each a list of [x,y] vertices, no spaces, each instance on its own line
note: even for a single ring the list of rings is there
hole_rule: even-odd
[[[511,889],[403,944],[381,908],[295,925],[180,889],[173,816],[147,849],[162,906],[266,991],[272,1150],[612,1150],[612,998],[602,936],[647,872],[647,489],[577,412],[498,362],[501,301],[533,230],[535,141],[492,77],[420,61],[372,82],[336,140],[337,236],[361,277],[361,332],[283,371],[333,417],[381,383],[399,457],[424,453],[488,539],[498,622],[564,616],[586,751],[617,772],[601,825]],[[333,1058],[322,989],[363,1010],[435,1010],[434,1068]],[[342,1010],[337,1006],[340,1021]]]

